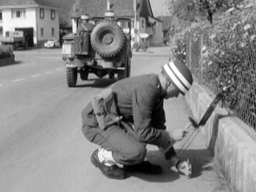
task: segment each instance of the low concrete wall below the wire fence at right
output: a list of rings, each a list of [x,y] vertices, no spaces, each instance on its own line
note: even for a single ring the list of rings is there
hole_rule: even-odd
[[[213,98],[194,83],[185,100],[194,118],[200,119]],[[253,130],[220,107],[201,130],[205,145],[221,162],[231,185],[240,192],[256,191],[256,141],[248,131]]]

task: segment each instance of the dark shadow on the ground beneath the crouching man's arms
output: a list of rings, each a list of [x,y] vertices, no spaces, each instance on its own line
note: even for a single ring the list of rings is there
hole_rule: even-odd
[[[184,154],[185,158],[190,159],[193,166],[192,175],[189,178],[196,178],[199,177],[204,171],[213,170],[213,167],[210,164],[210,152],[207,149],[186,150]],[[163,173],[160,175],[145,175],[141,173],[131,173],[130,176],[140,178],[141,180],[144,181],[155,183],[172,182],[180,178],[181,175],[176,172],[176,169],[171,169],[171,167],[173,167],[174,165],[170,165],[170,161],[164,160],[164,156],[160,151],[148,151],[147,157],[151,163],[160,165],[163,168]]]

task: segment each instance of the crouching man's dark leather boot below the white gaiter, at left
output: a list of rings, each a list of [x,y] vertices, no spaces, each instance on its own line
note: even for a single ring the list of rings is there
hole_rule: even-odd
[[[98,158],[98,149],[96,149],[91,155],[91,162],[94,166],[98,167],[101,172],[110,179],[125,179],[126,172],[118,167],[117,165],[106,166],[104,163],[100,162]]]

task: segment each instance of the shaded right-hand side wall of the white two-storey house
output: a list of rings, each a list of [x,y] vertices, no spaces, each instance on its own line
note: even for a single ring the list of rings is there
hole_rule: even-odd
[[[40,8],[36,9],[36,24],[38,40],[47,40],[49,37],[59,39],[59,12],[55,10],[56,17],[51,19],[51,9],[44,8],[44,18],[40,18]],[[44,36],[41,36],[41,28],[44,28]],[[51,28],[54,28],[54,36],[51,36]]]

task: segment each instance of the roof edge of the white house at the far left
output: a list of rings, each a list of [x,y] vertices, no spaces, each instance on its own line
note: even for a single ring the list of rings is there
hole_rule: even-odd
[[[51,0],[1,0],[0,6],[47,6],[57,7]]]

